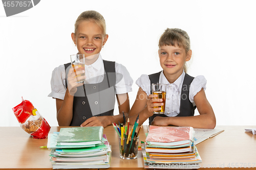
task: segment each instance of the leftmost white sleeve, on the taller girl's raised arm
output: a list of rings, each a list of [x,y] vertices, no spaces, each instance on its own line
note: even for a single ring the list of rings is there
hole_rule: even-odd
[[[52,71],[51,88],[52,92],[48,95],[54,99],[64,100],[66,93],[66,74],[65,66],[60,65]]]

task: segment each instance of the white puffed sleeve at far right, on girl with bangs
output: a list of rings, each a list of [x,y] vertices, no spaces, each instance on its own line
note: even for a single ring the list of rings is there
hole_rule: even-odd
[[[197,76],[195,79],[191,82],[190,88],[189,88],[189,101],[193,103],[195,106],[194,102],[194,96],[203,88],[206,90],[206,79],[204,76]]]

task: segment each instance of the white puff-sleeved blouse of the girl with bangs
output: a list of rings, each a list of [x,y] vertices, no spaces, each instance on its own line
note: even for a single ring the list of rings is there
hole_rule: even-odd
[[[169,83],[166,77],[163,74],[163,71],[159,77],[159,83],[164,83],[167,85],[166,88],[166,101],[165,101],[165,115],[167,116],[177,116],[180,113],[180,98],[182,84],[185,77],[185,72],[174,82]],[[203,88],[206,89],[206,79],[204,76],[197,76],[191,82],[189,87],[188,98],[189,101],[195,106],[194,96]],[[150,78],[148,75],[141,75],[140,78],[136,81],[136,84],[146,92],[147,95],[151,94],[150,89]]]

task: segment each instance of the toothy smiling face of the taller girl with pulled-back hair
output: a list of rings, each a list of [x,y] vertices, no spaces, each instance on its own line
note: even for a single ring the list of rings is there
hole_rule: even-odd
[[[76,34],[72,33],[71,36],[79,54],[84,54],[84,57],[100,53],[102,46],[108,40],[108,35],[104,35],[93,20],[81,21]]]

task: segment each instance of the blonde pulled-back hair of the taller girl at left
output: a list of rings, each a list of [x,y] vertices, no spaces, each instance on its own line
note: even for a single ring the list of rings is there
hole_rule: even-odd
[[[101,28],[101,30],[103,31],[103,36],[106,35],[106,23],[105,23],[105,19],[103,18],[103,16],[98,13],[97,11],[84,11],[82,12],[78,18],[76,19],[75,22],[75,34],[78,28],[78,25],[81,21],[94,21],[95,23],[97,23],[97,25]]]

